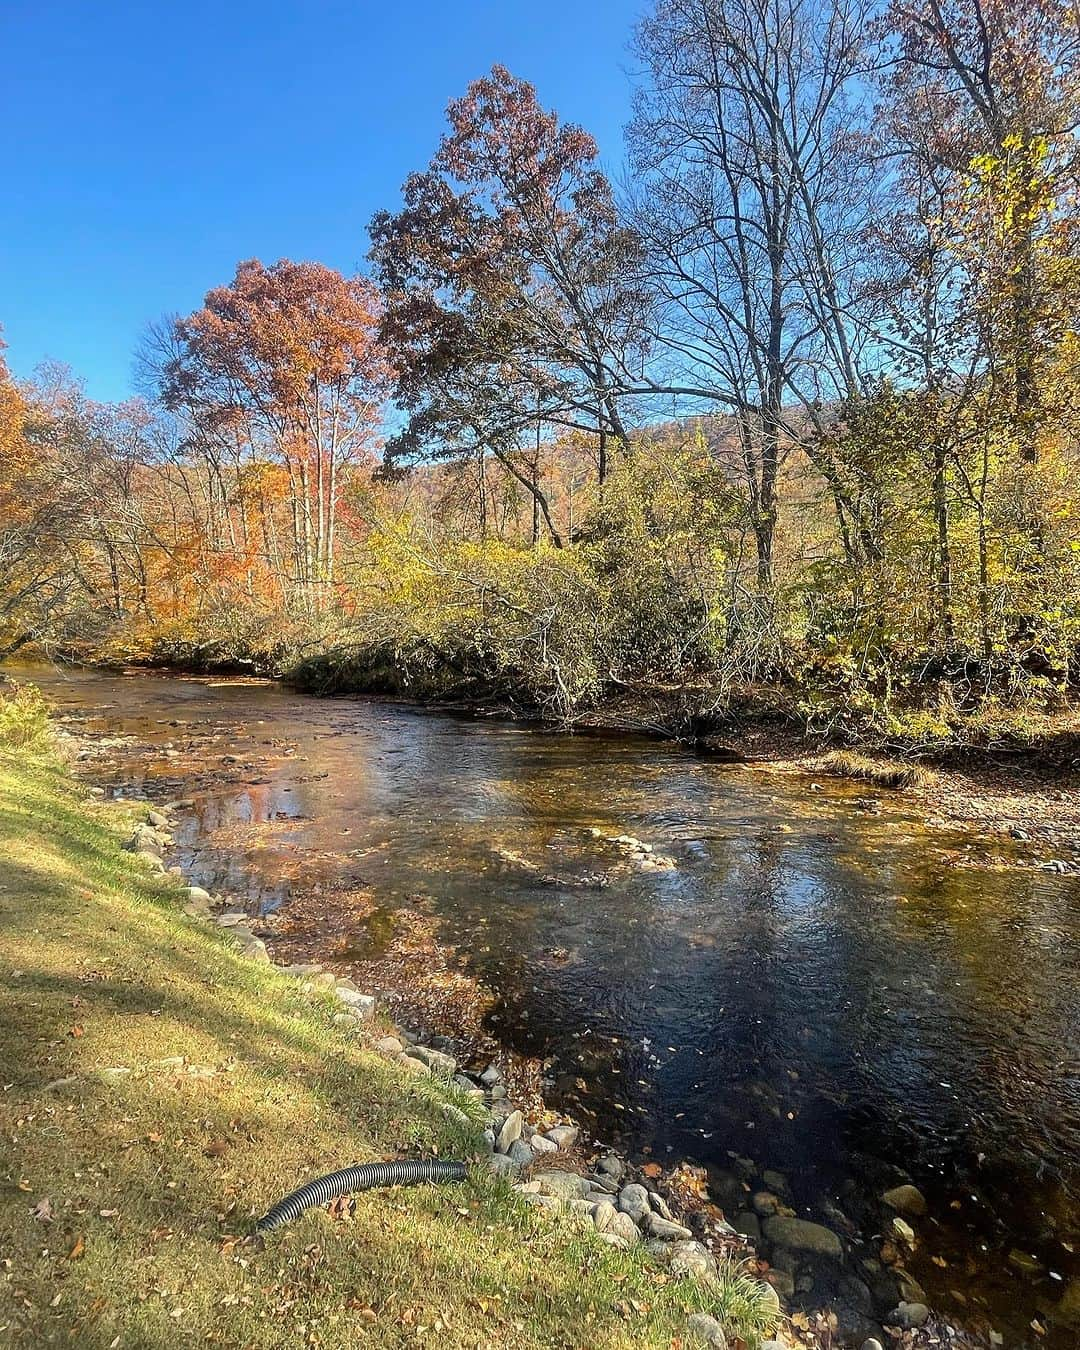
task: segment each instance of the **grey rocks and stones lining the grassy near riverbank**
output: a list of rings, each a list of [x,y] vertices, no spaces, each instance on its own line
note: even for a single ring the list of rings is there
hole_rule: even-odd
[[[100,791],[100,790],[99,790]],[[188,802],[148,809],[127,841],[130,852],[155,872],[167,864],[173,817]],[[649,853],[630,836],[613,841]],[[186,891],[186,913],[228,932],[242,953],[270,963],[270,945],[246,911],[198,886]],[[576,1123],[537,1104],[516,1100],[513,1071],[498,1062],[460,1064],[452,1037],[420,1037],[404,1018],[381,1026],[377,998],[317,961],[279,967],[301,988],[324,987],[340,1003],[335,1023],[356,1034],[401,1069],[436,1077],[447,1087],[443,1110],[459,1123],[481,1123],[485,1165],[504,1176],[525,1203],[586,1219],[601,1242],[629,1250],[641,1246],[670,1277],[717,1287],[722,1270],[740,1264],[768,1291],[776,1316],[776,1345],[844,1345],[878,1350],[890,1346],[957,1347],[986,1345],[927,1307],[925,1293],[905,1266],[918,1243],[917,1224],[926,1202],[910,1184],[880,1197],[879,1235],[837,1210],[833,1226],[799,1216],[790,1203],[788,1179],[759,1172],[736,1158],[730,1172],[687,1165],[634,1166],[617,1152],[586,1138]],[[863,1206],[865,1210],[865,1206]],[[865,1227],[865,1214],[863,1214]],[[702,1314],[691,1327],[698,1341],[725,1345],[724,1328]],[[992,1343],[992,1341],[991,1341]]]

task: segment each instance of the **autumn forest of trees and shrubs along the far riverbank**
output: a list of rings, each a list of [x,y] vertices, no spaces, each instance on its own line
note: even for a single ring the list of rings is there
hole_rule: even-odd
[[[495,66],[363,274],[208,277],[124,404],[0,358],[0,659],[906,748],[1068,711],[1075,3],[659,0],[630,43],[618,171]]]

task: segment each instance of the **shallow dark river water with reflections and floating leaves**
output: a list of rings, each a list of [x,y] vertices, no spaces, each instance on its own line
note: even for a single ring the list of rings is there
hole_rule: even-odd
[[[865,1238],[911,1180],[929,1215],[907,1268],[932,1304],[1007,1346],[1077,1343],[1052,1311],[1080,1277],[1076,878],[988,867],[1000,844],[930,832],[902,795],[655,741],[32,675],[90,734],[134,737],[94,776],[193,799],[177,838],[208,887],[288,913],[300,887],[329,911],[335,880],[362,883],[360,980],[425,896],[500,991],[489,1027],[601,1137],[721,1187],[752,1160]]]

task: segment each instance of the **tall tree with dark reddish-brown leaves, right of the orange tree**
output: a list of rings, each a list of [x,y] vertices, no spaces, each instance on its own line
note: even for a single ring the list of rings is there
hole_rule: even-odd
[[[481,490],[495,456],[562,543],[540,441],[587,433],[601,481],[610,447],[626,444],[624,401],[644,356],[637,242],[593,138],[541,108],[532,85],[495,66],[447,119],[402,209],[371,223],[383,336],[409,413],[390,456],[471,456]]]

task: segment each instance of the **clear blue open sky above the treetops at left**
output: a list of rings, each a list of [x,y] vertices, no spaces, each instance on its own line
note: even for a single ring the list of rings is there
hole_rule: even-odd
[[[131,392],[148,320],[242,258],[344,271],[493,62],[621,163],[644,0],[4,0],[0,324],[27,375]]]

